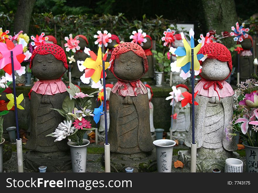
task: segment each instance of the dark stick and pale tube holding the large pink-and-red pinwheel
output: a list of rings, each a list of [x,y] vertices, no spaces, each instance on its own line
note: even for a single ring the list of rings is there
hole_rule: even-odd
[[[14,64],[13,64],[13,51],[11,51],[11,64],[12,64],[12,75],[13,75],[14,112],[15,112],[16,131],[17,131],[16,148],[17,148],[18,172],[23,172],[22,142],[21,142],[21,138],[20,138],[20,134],[19,134],[19,124],[18,124]]]

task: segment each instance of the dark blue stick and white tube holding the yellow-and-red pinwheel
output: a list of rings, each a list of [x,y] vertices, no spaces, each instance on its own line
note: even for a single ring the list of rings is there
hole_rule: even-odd
[[[103,93],[104,93],[104,116],[105,116],[105,172],[110,172],[110,144],[108,143],[108,127],[107,127],[107,105],[106,105],[106,77],[105,77],[105,61],[102,60],[103,68]]]

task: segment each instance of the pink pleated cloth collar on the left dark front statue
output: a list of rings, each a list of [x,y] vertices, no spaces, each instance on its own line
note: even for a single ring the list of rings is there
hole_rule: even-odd
[[[41,95],[55,95],[66,92],[66,88],[65,83],[60,78],[55,80],[39,80],[31,90]]]

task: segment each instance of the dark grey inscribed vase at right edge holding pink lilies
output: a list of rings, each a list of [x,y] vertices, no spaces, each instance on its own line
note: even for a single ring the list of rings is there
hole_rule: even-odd
[[[246,172],[258,172],[258,147],[245,145]]]

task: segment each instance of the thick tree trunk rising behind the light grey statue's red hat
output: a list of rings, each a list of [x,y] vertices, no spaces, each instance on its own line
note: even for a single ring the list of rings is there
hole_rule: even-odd
[[[231,26],[235,26],[237,12],[234,0],[201,0],[201,4],[205,26],[203,30],[206,32],[216,30],[216,34],[221,35],[222,31],[230,32]],[[227,38],[228,48],[235,44],[233,38]]]

